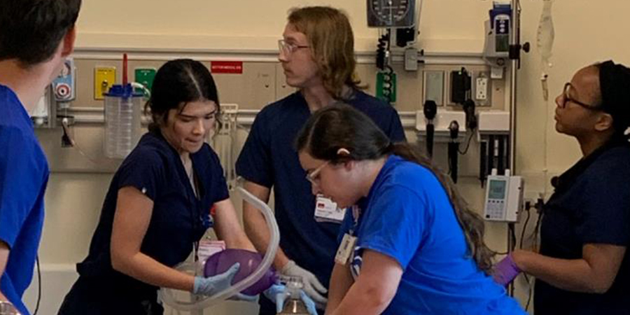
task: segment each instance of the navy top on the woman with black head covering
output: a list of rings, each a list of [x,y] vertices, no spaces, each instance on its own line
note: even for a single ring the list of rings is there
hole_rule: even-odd
[[[552,181],[545,204],[540,253],[580,259],[584,244],[626,246],[615,282],[604,294],[575,293],[536,280],[536,315],[630,314],[630,145],[613,141]]]

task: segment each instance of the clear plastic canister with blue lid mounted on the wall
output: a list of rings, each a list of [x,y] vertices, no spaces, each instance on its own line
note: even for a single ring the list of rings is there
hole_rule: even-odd
[[[105,94],[106,157],[125,158],[138,143],[143,97],[131,84],[112,85]]]

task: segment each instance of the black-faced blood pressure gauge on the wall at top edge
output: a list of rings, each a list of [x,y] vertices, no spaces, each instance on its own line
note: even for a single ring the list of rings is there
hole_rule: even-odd
[[[414,0],[367,0],[368,27],[412,27]]]

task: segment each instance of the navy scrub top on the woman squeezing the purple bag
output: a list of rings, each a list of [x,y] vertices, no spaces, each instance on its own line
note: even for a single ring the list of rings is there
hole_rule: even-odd
[[[157,289],[111,267],[109,250],[118,190],[129,186],[153,200],[151,222],[140,251],[169,267],[188,258],[194,242],[211,227],[213,204],[229,197],[221,162],[210,146],[204,144],[190,158],[200,199],[195,197],[179,154],[160,132],[148,132],[140,139],[113,176],[90,253],[77,264],[81,276],[104,277],[115,282],[114,287],[134,288],[131,292],[151,294]]]

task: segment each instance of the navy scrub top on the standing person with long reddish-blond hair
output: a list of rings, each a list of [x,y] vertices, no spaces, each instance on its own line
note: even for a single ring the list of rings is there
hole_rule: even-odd
[[[405,140],[398,113],[389,104],[358,90],[346,103],[372,118],[393,141]],[[265,106],[254,120],[236,171],[248,181],[274,188],[280,247],[328,287],[339,224],[314,220],[315,197],[294,146],[310,116],[301,92]]]

